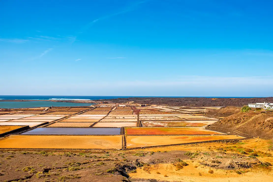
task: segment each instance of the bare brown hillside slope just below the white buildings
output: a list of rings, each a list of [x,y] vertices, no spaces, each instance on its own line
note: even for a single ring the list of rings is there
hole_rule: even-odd
[[[253,112],[236,113],[225,117],[212,126],[234,129],[246,134],[273,138],[273,113]]]

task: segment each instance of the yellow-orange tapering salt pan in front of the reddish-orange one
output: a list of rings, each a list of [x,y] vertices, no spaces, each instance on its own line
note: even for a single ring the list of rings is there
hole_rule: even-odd
[[[209,140],[242,138],[236,135],[217,136],[126,136],[127,148],[147,147],[155,145],[182,144],[189,142],[201,142]]]

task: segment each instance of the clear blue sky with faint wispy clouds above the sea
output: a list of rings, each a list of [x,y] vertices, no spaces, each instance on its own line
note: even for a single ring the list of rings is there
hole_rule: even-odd
[[[272,96],[273,1],[0,2],[0,95]]]

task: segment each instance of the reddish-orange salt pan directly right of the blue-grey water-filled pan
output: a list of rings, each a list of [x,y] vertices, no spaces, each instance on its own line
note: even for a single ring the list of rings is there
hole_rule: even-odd
[[[171,128],[171,127],[156,127],[156,128],[125,128],[126,135],[213,135],[221,134],[215,131],[205,130],[203,127],[185,127],[185,128]]]

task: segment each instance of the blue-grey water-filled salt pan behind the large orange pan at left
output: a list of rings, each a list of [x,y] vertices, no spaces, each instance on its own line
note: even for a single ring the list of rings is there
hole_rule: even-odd
[[[22,135],[120,135],[120,128],[35,128]]]

